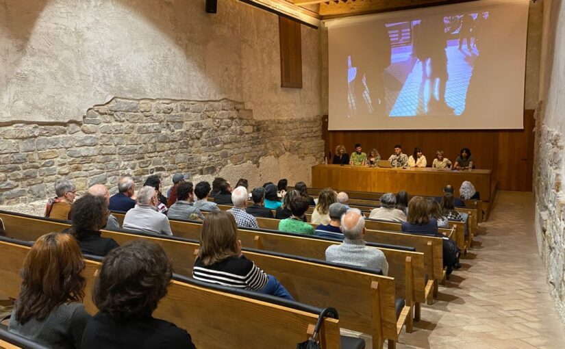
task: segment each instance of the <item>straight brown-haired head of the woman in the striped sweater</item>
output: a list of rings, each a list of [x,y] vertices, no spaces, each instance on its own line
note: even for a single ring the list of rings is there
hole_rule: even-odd
[[[206,215],[200,233],[198,257],[205,266],[237,256],[238,226],[234,216],[226,211],[214,211]]]

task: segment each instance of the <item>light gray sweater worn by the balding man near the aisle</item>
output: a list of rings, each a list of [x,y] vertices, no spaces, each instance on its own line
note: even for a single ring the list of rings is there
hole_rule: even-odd
[[[381,269],[383,275],[388,274],[388,263],[384,253],[375,247],[365,246],[362,239],[344,238],[340,245],[331,245],[326,249],[326,261],[349,264],[368,269]]]

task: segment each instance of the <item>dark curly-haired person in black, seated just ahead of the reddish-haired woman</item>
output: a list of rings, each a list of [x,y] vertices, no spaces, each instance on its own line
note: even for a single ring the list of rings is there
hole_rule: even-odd
[[[110,237],[101,237],[100,229],[108,220],[108,204],[103,196],[86,194],[73,204],[71,209],[71,233],[77,238],[85,255],[105,256],[118,247]]]

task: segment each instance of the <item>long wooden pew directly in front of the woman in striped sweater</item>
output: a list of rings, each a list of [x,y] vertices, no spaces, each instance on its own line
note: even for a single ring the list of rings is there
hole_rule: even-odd
[[[70,227],[65,221],[5,211],[0,211],[0,218],[4,221],[7,236],[19,240],[33,241],[43,233]],[[20,233],[21,231],[25,233]],[[197,241],[122,231],[102,231],[102,235],[111,237],[118,244],[135,239],[155,242],[162,246],[171,258],[175,272],[192,274],[194,258],[190,256],[197,254]],[[371,335],[373,348],[381,348],[384,339],[388,339],[389,348],[394,348],[404,324],[407,324],[407,331],[412,331],[414,290],[408,287],[405,294],[406,303],[399,304],[395,299],[396,287],[392,277],[351,266],[308,261],[258,250],[244,249],[244,253],[266,272],[277,277],[299,302],[336,307],[340,312],[342,326]],[[407,257],[405,263],[411,264],[412,259]],[[412,270],[412,267],[409,266],[406,270]],[[412,285],[413,275],[408,274],[406,278],[407,285]],[[328,292],[329,289],[331,292]],[[356,301],[351,302],[351,299]],[[398,318],[397,308],[400,310]]]

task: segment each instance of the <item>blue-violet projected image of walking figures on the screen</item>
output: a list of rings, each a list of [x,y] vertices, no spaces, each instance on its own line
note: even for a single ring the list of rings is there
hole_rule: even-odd
[[[430,16],[373,30],[375,47],[347,56],[349,117],[462,115],[488,18],[489,12]],[[375,54],[357,54],[368,49]]]

